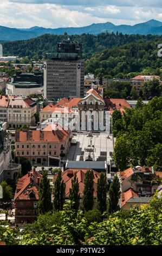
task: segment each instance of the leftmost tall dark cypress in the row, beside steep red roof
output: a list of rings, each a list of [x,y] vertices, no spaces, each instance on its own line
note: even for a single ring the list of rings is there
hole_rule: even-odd
[[[38,212],[39,214],[46,214],[51,210],[51,188],[50,181],[47,176],[46,170],[43,170],[42,179],[40,181],[40,189],[38,191]]]

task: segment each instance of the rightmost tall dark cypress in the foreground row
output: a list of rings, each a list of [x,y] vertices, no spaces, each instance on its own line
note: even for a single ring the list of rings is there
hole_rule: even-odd
[[[120,210],[119,198],[120,198],[120,182],[118,176],[115,176],[108,192],[108,212],[113,213]]]

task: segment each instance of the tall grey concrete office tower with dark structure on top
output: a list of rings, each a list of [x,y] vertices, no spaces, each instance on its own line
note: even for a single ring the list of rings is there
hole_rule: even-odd
[[[44,97],[83,97],[84,75],[82,44],[69,39],[58,43],[57,53],[50,53],[50,61],[44,62]]]

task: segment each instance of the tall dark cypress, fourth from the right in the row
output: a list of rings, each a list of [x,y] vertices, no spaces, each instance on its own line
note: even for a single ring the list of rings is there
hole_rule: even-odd
[[[73,209],[78,210],[80,194],[78,178],[76,179],[76,172],[74,174],[74,179],[72,179],[72,188],[70,188],[69,200],[74,202]]]

